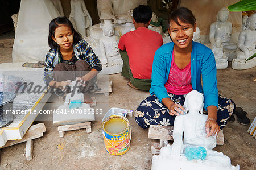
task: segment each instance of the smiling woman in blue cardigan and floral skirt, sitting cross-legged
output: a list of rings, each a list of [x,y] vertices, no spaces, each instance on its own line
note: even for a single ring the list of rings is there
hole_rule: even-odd
[[[213,52],[203,44],[193,42],[196,19],[184,7],[170,14],[168,32],[172,42],[162,45],[154,56],[151,96],[135,111],[135,122],[142,128],[149,125],[174,125],[183,114],[185,96],[192,90],[204,94],[204,114],[207,136],[217,135],[233,114],[236,105],[218,95],[216,64]],[[203,84],[203,85],[202,85]]]

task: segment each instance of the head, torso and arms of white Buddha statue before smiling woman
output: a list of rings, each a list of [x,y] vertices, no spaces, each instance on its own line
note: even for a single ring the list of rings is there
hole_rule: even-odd
[[[202,146],[208,150],[212,150],[216,146],[216,137],[210,136],[206,138],[205,121],[208,116],[203,115],[204,96],[202,93],[193,90],[189,92],[185,98],[184,107],[188,114],[180,115],[175,118],[174,144],[172,144],[172,155],[179,155],[183,152],[181,147],[183,144],[191,144]],[[182,135],[184,132],[184,140]]]

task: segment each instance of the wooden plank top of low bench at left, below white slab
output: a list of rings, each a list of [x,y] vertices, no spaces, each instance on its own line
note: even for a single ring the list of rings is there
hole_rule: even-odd
[[[4,146],[0,148],[5,148],[5,147],[12,146],[14,144],[27,142],[28,140],[40,138],[43,136],[43,132],[46,132],[46,126],[44,126],[44,123],[38,123],[36,125],[32,125],[21,140],[9,140]]]

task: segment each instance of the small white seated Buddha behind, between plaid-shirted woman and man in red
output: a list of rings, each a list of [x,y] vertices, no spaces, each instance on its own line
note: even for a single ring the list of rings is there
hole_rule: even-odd
[[[109,65],[120,63],[122,59],[118,48],[119,38],[114,35],[112,22],[105,22],[102,30],[104,36],[100,39],[101,63]]]

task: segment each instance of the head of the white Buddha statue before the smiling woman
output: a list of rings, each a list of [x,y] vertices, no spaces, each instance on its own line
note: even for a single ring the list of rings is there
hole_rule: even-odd
[[[197,92],[196,90],[192,90],[187,94],[185,97],[184,106],[186,112],[193,112],[203,114],[203,107],[204,107],[204,96],[202,93]],[[188,114],[189,114],[188,112]]]

